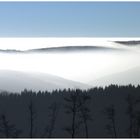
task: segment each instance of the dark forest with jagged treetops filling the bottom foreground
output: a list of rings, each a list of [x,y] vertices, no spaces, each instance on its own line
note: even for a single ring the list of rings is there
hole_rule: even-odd
[[[1,138],[139,138],[140,86],[0,93]]]

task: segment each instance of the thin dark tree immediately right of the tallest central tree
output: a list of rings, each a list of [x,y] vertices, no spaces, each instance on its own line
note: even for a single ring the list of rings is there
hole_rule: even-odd
[[[89,100],[90,96],[84,94],[80,96],[79,104],[80,104],[80,118],[84,124],[86,138],[88,138],[88,121],[91,121],[90,109],[89,109]],[[87,104],[88,103],[88,104]]]

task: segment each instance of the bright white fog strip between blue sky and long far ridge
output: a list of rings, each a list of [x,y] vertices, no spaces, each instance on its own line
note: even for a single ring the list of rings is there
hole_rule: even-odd
[[[140,38],[0,38],[0,49],[28,50],[59,46],[112,46],[113,40],[140,40]]]

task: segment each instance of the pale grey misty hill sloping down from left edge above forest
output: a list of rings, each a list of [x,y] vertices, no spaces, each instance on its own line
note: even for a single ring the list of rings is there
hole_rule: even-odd
[[[50,74],[0,70],[0,89],[3,91],[20,92],[25,88],[34,91],[51,91],[64,88],[86,89],[89,87],[86,84],[66,80]]]

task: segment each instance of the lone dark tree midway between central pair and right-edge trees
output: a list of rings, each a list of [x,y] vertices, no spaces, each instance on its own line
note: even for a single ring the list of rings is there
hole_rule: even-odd
[[[116,116],[116,111],[114,108],[114,105],[111,105],[105,110],[105,114],[107,115],[108,119],[110,120],[110,124],[107,125],[107,129],[113,133],[113,137],[117,138],[117,131],[116,131],[116,123],[115,123],[115,116]]]

